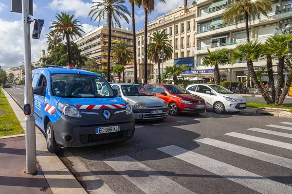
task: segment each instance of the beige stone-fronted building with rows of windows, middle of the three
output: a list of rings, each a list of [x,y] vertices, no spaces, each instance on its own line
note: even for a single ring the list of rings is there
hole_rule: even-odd
[[[174,64],[175,58],[183,58],[193,56],[192,47],[195,41],[195,16],[196,6],[187,8],[180,7],[174,9],[170,13],[165,14],[147,24],[147,36],[158,30],[168,34],[169,42],[173,47],[172,57],[163,63],[163,69]],[[138,70],[144,70],[144,29],[136,33],[137,38],[137,64]],[[147,42],[151,42],[151,38],[147,37]],[[148,77],[151,77],[151,83],[158,80],[158,65],[148,60]],[[161,67],[162,68],[162,67]],[[144,77],[144,71],[138,71],[138,77]],[[141,79],[140,79],[141,80]]]

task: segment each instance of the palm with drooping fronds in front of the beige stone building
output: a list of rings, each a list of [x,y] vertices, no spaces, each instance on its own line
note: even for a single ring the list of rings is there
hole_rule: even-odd
[[[149,37],[152,38],[152,42],[147,44],[147,58],[151,59],[155,63],[158,63],[158,82],[161,83],[159,54],[161,50],[164,50],[164,60],[168,60],[173,53],[172,46],[169,43],[168,35],[166,35],[164,31],[158,32],[158,30],[156,30],[156,32],[151,33]]]

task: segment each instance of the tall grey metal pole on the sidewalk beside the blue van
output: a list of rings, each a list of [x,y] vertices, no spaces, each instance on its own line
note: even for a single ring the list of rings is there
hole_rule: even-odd
[[[24,73],[25,90],[24,104],[31,106],[31,113],[25,115],[25,152],[26,152],[26,173],[35,174],[37,172],[36,155],[36,124],[33,105],[32,88],[32,67],[31,67],[31,43],[30,43],[30,21],[29,21],[29,1],[22,0],[22,19],[24,37]]]

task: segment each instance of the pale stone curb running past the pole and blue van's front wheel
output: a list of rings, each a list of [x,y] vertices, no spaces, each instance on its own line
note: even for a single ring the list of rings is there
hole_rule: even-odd
[[[10,94],[3,89],[10,106],[16,114],[20,124],[24,127],[24,114],[22,109],[13,100]],[[20,134],[19,136],[24,136]],[[18,135],[16,135],[18,136]],[[4,136],[4,138],[11,138],[12,136]],[[4,139],[1,138],[1,139]],[[69,169],[56,156],[55,153],[50,153],[47,150],[46,139],[36,127],[36,146],[37,146],[37,165],[43,172],[53,194],[87,194],[85,189],[72,175]]]

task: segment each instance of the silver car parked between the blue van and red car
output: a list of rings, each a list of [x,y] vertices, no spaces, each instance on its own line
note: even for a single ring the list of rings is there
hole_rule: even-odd
[[[135,115],[135,120],[163,120],[168,116],[169,108],[161,98],[153,95],[139,84],[111,84],[118,95],[126,100]]]

